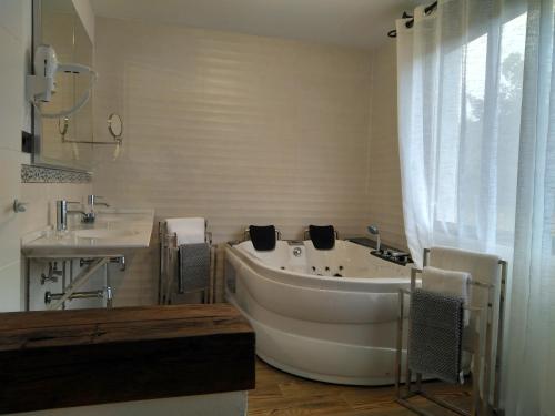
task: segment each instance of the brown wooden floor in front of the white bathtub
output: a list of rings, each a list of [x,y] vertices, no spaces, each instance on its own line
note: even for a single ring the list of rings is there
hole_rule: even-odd
[[[468,387],[443,383],[425,383],[425,389],[467,408]],[[433,415],[456,415],[422,398],[411,402],[424,405]],[[337,416],[404,416],[414,415],[394,402],[393,386],[351,387],[295,377],[264,362],[256,362],[256,388],[249,392],[249,415],[337,415]]]

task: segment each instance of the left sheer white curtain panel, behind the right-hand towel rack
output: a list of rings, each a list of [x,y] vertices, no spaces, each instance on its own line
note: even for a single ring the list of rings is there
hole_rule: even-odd
[[[440,1],[397,21],[403,212],[431,245],[512,253],[526,14],[521,1]]]

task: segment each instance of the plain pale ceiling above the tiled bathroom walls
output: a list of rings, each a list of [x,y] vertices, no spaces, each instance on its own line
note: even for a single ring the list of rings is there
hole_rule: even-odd
[[[372,49],[418,0],[90,0],[97,16]]]

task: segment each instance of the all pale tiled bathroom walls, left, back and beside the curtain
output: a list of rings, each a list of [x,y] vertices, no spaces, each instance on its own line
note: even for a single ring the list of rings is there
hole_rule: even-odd
[[[206,216],[215,242],[249,223],[299,237],[309,223],[343,234],[376,223],[405,246],[396,136],[395,49],[373,53],[312,43],[99,19],[95,136],[112,111],[125,123],[123,152],[98,152],[94,184],[20,184],[23,73],[30,1],[0,2],[0,233],[52,221],[59,197],[92,192],[158,217]],[[26,30],[27,28],[27,30]],[[12,59],[6,59],[11,57]],[[13,199],[28,213],[10,211]],[[18,220],[19,219],[19,220]],[[114,277],[117,303],[154,300],[157,240]],[[0,310],[21,305],[19,242],[0,243]],[[10,293],[10,294],[8,294]]]

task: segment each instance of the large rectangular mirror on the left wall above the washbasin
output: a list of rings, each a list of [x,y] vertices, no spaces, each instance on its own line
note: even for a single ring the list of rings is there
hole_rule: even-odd
[[[52,45],[60,62],[92,67],[92,41],[72,0],[34,0],[33,13],[34,45]],[[87,75],[59,72],[56,93],[50,102],[41,103],[41,111],[52,113],[73,106],[87,91],[89,81]],[[42,118],[36,111],[34,132],[33,163],[78,170],[91,168],[92,144],[73,141],[93,141],[92,99],[62,120]]]

